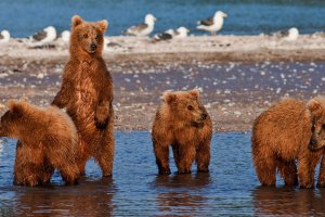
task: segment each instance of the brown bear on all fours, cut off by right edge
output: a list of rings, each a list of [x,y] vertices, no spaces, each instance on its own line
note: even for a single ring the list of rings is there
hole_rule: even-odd
[[[324,145],[325,99],[318,97],[308,103],[283,99],[263,112],[253,124],[251,154],[261,184],[275,186],[275,174],[280,171],[285,184],[292,186],[299,180],[300,188],[312,188]],[[323,161],[324,157],[318,187],[325,186]]]

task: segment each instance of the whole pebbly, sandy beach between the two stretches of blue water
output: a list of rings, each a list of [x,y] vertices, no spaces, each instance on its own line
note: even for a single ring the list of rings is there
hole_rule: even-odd
[[[114,78],[116,130],[150,130],[160,95],[169,89],[199,88],[214,131],[250,130],[256,116],[284,95],[309,99],[323,93],[322,34],[296,41],[270,36],[106,41],[103,55]],[[25,97],[48,105],[60,89],[68,44],[56,40],[32,48],[11,40],[0,44],[0,103]]]

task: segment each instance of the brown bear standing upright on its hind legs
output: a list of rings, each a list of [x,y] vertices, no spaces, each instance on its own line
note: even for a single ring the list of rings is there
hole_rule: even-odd
[[[70,58],[65,65],[62,87],[52,105],[73,118],[79,135],[77,164],[84,175],[90,157],[100,164],[103,176],[110,176],[114,158],[113,79],[102,58],[107,21],[88,23],[72,20]]]

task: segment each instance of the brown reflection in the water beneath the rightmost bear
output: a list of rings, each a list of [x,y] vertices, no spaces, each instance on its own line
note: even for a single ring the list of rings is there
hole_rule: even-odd
[[[252,192],[256,216],[324,216],[324,196],[323,189],[259,187]]]

